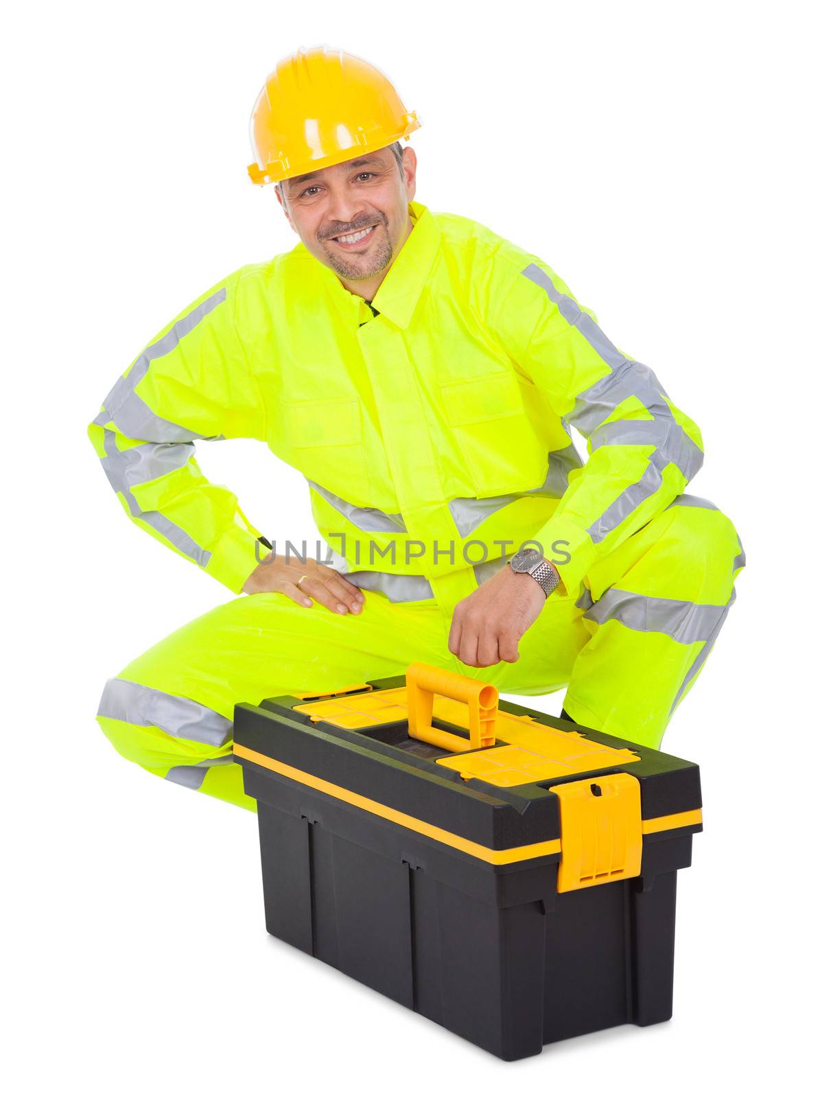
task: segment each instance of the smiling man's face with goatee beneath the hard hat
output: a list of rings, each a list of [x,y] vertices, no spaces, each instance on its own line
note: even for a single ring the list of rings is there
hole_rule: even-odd
[[[362,283],[386,272],[411,224],[416,154],[403,149],[404,171],[390,148],[282,182],[277,198],[307,250],[342,282]],[[359,239],[340,240],[362,231]],[[366,294],[367,295],[367,294]]]

